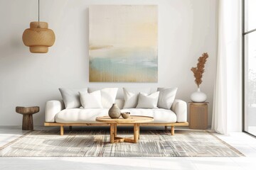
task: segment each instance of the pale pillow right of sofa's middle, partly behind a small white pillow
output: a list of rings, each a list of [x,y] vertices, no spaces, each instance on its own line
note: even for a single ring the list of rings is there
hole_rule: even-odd
[[[123,88],[124,91],[124,108],[135,108],[138,104],[139,93],[150,94],[150,88],[144,89],[127,89]]]

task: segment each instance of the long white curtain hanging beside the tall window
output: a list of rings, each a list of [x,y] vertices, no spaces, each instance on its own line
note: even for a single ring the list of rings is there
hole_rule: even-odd
[[[218,2],[218,56],[212,130],[225,135],[242,128],[241,11],[240,0]]]

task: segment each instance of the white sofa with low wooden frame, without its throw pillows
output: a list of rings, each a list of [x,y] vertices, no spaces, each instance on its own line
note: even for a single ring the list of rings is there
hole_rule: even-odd
[[[153,89],[153,92],[156,91]],[[151,91],[152,92],[152,91]],[[187,126],[187,105],[185,101],[175,99],[171,109],[164,108],[123,108],[124,94],[118,90],[117,99],[114,101],[122,112],[130,112],[131,115],[145,115],[154,118],[151,123],[142,123],[151,126],[171,127],[171,135],[174,135],[174,126]],[[95,118],[108,115],[109,108],[65,108],[63,101],[53,100],[46,102],[45,126],[60,126],[60,135],[63,135],[64,126],[106,125],[99,123]]]

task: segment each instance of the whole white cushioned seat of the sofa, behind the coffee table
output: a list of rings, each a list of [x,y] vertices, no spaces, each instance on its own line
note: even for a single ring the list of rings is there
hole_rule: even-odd
[[[96,122],[99,116],[108,115],[108,108],[71,108],[64,109],[55,115],[56,123],[100,123]],[[144,115],[154,118],[150,123],[175,123],[176,114],[164,108],[146,109],[146,108],[126,108],[122,112],[130,112],[131,115]]]

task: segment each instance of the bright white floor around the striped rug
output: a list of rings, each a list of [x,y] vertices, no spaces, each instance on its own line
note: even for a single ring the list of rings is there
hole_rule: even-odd
[[[25,132],[18,126],[0,126],[0,147]],[[1,157],[0,169],[255,169],[256,138],[243,132],[217,136],[245,154],[245,157]]]

